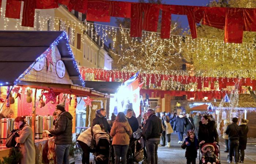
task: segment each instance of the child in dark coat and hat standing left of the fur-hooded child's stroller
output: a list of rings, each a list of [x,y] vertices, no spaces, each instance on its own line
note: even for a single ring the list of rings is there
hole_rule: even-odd
[[[194,130],[188,130],[187,135],[181,148],[186,149],[185,157],[187,158],[187,164],[196,164],[197,149],[199,148],[198,140]]]

